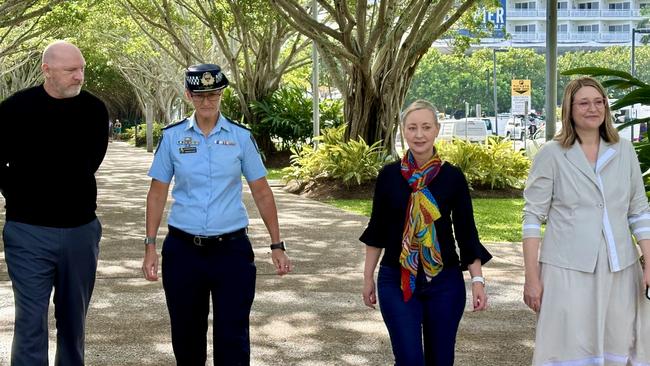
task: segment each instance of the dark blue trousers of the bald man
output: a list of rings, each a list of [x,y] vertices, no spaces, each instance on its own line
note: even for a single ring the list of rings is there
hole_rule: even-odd
[[[54,288],[55,365],[84,364],[84,329],[95,286],[102,227],[75,228],[7,221],[3,230],[16,322],[12,366],[47,366],[47,311]]]

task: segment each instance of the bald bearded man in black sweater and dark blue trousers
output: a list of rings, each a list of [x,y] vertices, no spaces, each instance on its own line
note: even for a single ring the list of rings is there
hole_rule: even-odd
[[[102,231],[95,172],[108,145],[108,112],[81,90],[84,67],[76,46],[54,42],[43,52],[45,82],[0,103],[3,241],[16,308],[12,366],[48,365],[52,289],[55,364],[84,364]]]

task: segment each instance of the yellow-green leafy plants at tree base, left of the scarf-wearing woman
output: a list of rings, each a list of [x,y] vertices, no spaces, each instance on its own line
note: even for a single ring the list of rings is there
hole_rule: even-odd
[[[310,145],[291,149],[291,166],[283,169],[286,181],[308,182],[319,178],[340,180],[345,185],[375,179],[390,156],[381,141],[370,146],[363,139],[344,141],[345,126],[324,129],[318,149]]]

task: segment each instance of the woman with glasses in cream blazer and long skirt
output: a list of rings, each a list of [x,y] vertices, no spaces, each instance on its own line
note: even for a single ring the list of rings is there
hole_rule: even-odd
[[[562,131],[535,156],[524,199],[533,365],[650,366],[650,265],[641,268],[632,240],[650,257],[648,200],[596,80],[567,85]]]

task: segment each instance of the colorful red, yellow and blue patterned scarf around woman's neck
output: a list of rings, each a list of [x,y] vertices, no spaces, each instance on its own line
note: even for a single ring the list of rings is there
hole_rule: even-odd
[[[402,253],[399,258],[402,264],[401,287],[405,302],[411,299],[415,291],[419,263],[422,263],[427,281],[442,270],[440,243],[433,224],[441,215],[438,203],[427,188],[440,172],[441,166],[442,160],[435,147],[433,157],[422,167],[417,166],[411,150],[402,158],[402,176],[413,190],[406,209]]]

